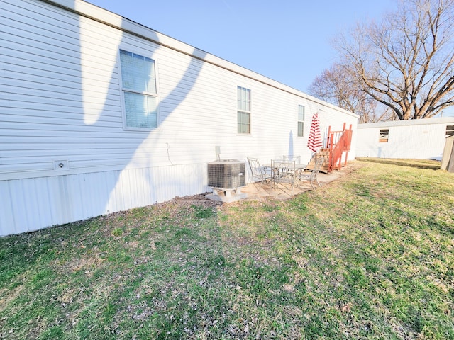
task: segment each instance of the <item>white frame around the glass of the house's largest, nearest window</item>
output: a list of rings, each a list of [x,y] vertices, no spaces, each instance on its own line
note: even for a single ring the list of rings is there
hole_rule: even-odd
[[[151,92],[139,92],[139,91],[133,91],[131,89],[125,89],[123,88],[123,72],[121,72],[121,50],[125,52],[131,52],[135,55],[140,55],[141,57],[146,57],[150,60],[153,60],[153,66],[155,68],[155,87],[156,87],[156,93],[153,94]],[[121,120],[122,120],[122,125],[123,125],[123,130],[125,131],[138,131],[138,132],[161,132],[162,131],[162,125],[161,125],[161,117],[160,117],[160,90],[159,90],[159,75],[157,72],[158,69],[158,62],[154,58],[150,57],[150,51],[138,51],[135,49],[131,49],[129,47],[118,47],[117,50],[117,70],[118,70],[118,86],[120,89],[120,97],[121,97]],[[156,128],[140,128],[140,127],[135,127],[135,126],[128,126],[126,123],[126,102],[125,102],[125,93],[133,93],[133,94],[143,94],[144,96],[151,96],[154,97],[156,100]]]

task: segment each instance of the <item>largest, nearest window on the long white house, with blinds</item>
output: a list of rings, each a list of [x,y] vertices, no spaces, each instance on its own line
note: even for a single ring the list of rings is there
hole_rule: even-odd
[[[125,110],[125,128],[157,128],[157,90],[155,61],[120,50],[121,90]]]

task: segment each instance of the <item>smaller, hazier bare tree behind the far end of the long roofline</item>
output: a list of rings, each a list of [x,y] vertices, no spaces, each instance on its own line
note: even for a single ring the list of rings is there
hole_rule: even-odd
[[[316,77],[309,86],[309,94],[358,114],[360,123],[392,120],[390,111],[368,96],[361,89],[358,77],[341,64],[333,64]]]

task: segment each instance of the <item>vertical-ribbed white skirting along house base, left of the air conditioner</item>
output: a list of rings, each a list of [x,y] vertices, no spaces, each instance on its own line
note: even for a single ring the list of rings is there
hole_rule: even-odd
[[[0,181],[0,236],[206,192],[205,172],[192,164]]]

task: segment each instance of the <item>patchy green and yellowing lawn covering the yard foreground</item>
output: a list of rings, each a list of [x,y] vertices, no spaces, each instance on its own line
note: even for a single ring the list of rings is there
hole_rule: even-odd
[[[454,339],[454,175],[355,168],[1,238],[0,339]]]

